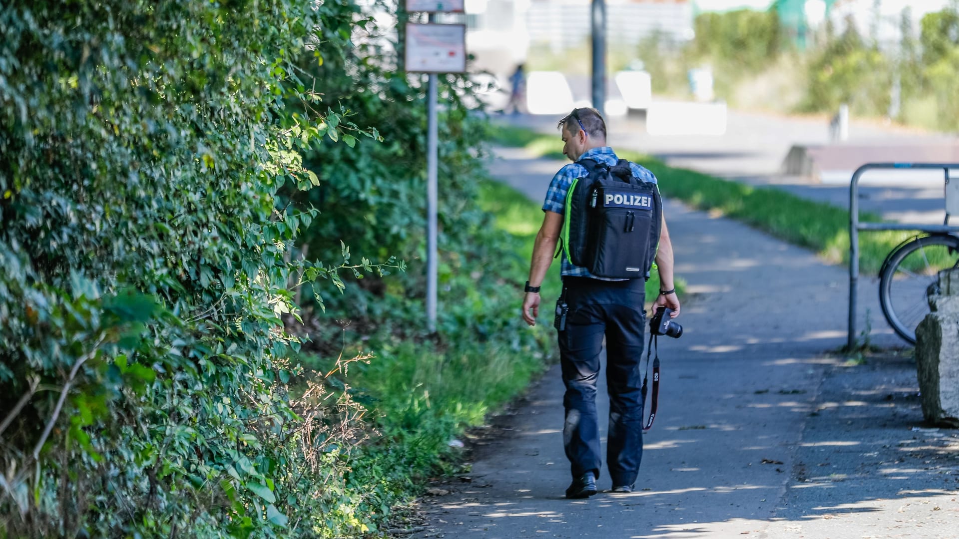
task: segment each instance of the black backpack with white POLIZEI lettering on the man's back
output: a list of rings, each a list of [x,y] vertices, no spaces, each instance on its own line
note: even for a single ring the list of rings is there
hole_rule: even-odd
[[[588,175],[573,179],[566,195],[566,257],[596,277],[648,279],[663,223],[659,188],[633,176],[625,159],[579,164]]]

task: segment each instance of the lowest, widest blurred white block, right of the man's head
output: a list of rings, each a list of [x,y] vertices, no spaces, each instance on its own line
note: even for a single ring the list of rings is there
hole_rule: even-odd
[[[725,103],[654,102],[646,110],[651,135],[722,135],[726,133]]]

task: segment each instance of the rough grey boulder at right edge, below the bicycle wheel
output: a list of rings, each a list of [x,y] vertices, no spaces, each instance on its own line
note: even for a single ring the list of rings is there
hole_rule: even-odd
[[[916,328],[916,370],[925,420],[959,427],[959,269],[940,271],[939,285]]]

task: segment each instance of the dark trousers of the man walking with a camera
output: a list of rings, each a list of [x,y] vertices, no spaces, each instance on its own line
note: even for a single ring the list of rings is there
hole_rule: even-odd
[[[560,364],[566,385],[566,457],[570,459],[573,477],[590,471],[599,477],[602,460],[596,380],[605,337],[610,405],[606,459],[613,484],[631,485],[636,482],[643,457],[643,280],[609,282],[564,277],[563,284],[569,305],[566,329],[559,332]]]

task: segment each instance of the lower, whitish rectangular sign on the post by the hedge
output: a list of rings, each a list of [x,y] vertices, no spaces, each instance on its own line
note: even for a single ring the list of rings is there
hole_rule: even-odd
[[[465,73],[466,25],[407,23],[409,73]]]

